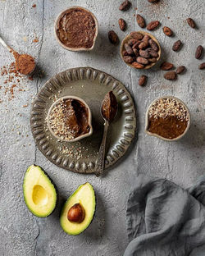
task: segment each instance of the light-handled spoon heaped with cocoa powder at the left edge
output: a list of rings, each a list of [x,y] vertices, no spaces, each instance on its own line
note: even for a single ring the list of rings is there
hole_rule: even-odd
[[[29,54],[19,54],[11,46],[9,46],[5,41],[0,37],[0,43],[2,46],[7,48],[9,53],[12,53],[16,60],[16,71],[20,72],[22,75],[29,75],[35,69],[35,61],[32,56]]]

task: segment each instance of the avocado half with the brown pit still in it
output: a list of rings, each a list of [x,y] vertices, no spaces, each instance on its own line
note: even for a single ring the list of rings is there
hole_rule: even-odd
[[[95,194],[88,182],[80,185],[62,208],[60,223],[69,235],[79,235],[92,222],[95,212]]]

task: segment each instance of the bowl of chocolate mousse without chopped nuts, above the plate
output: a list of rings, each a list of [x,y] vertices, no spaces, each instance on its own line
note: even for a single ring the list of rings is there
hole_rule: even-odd
[[[69,7],[57,16],[55,35],[66,50],[91,51],[98,36],[98,20],[84,7]]]

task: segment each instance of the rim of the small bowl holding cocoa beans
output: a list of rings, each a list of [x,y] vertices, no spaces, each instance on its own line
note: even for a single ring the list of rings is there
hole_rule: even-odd
[[[142,30],[139,30],[139,31],[132,31],[132,32],[138,32],[138,33],[144,34],[144,35],[145,35],[145,34],[148,34],[148,36],[149,36],[151,39],[153,39],[155,43],[157,43],[158,48],[159,48],[159,50],[158,50],[159,56],[157,57],[157,62],[158,62],[158,61],[160,60],[160,58],[161,58],[162,48],[161,48],[160,43],[157,41],[156,37],[155,37],[153,34],[150,34],[150,33],[146,32],[146,31],[142,31]],[[130,33],[131,33],[131,32],[130,32]],[[124,61],[124,59],[123,59],[122,52],[123,52],[123,50],[124,50],[124,45],[125,45],[125,43],[126,43],[129,39],[131,39],[131,35],[130,35],[130,34],[127,34],[127,35],[125,36],[125,38],[122,40],[122,42],[121,42],[121,59],[123,60],[123,62],[125,62],[125,61]],[[142,69],[136,68],[136,67],[132,66],[130,63],[126,63],[126,62],[125,62],[125,64],[126,64],[127,66],[131,66],[132,68],[134,68],[134,69],[136,69],[136,70],[142,70],[142,71],[144,71],[144,70],[147,70],[147,69],[153,67],[154,65],[156,65],[157,62],[153,62],[153,63],[151,63],[150,65],[147,65],[147,66],[145,66],[145,67],[142,68]]]

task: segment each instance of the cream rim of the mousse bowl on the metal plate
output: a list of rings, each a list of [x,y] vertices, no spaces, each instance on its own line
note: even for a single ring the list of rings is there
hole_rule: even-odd
[[[81,103],[84,103],[84,106],[87,107],[88,110],[89,110],[89,127],[90,127],[89,132],[86,133],[86,134],[84,134],[84,135],[80,135],[80,136],[78,136],[78,137],[76,137],[76,138],[74,138],[74,139],[62,139],[61,137],[57,136],[57,135],[53,132],[53,130],[52,130],[50,124],[49,124],[49,116],[50,116],[50,113],[51,113],[51,111],[52,111],[52,108],[53,108],[57,103],[59,103],[61,100],[65,100],[65,99],[68,99],[68,98],[76,99],[76,100],[80,101]],[[80,97],[77,97],[77,96],[67,95],[67,96],[63,96],[63,97],[61,97],[61,98],[58,98],[54,103],[52,103],[51,107],[48,109],[48,114],[47,114],[47,117],[46,117],[46,121],[47,121],[47,125],[48,125],[48,130],[52,133],[52,135],[53,135],[55,138],[60,139],[61,141],[75,142],[75,141],[78,141],[78,140],[80,140],[80,139],[84,139],[84,138],[88,137],[89,135],[92,135],[92,134],[93,134],[92,113],[91,113],[91,110],[90,110],[90,108],[89,108],[89,105],[88,105],[87,103],[85,103],[84,99],[82,99],[82,98],[80,98]]]

